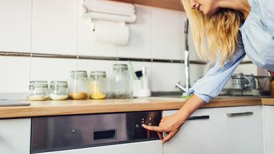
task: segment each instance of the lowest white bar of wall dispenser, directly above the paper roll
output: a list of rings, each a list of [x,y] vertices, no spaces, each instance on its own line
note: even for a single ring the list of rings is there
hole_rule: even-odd
[[[107,21],[122,21],[127,23],[134,23],[136,21],[136,15],[124,16],[124,15],[114,15],[109,13],[91,11],[86,13],[85,16],[91,17],[91,19],[107,20]]]

